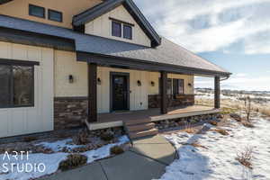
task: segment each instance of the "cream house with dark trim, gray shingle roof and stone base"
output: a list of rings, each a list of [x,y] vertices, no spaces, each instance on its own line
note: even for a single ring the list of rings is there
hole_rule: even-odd
[[[131,0],[0,0],[0,138],[194,103],[230,73],[161,38]]]

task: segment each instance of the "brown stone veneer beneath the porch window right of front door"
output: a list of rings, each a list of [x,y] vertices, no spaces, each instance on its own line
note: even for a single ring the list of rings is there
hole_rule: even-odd
[[[150,94],[148,95],[148,108],[160,108],[160,95]],[[168,107],[175,106],[187,106],[194,104],[193,94],[180,94],[176,96],[168,97]]]

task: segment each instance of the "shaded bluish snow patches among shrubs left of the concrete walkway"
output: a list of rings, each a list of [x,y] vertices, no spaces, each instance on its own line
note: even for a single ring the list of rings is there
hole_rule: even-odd
[[[64,139],[64,140],[58,140],[55,142],[42,142],[39,145],[43,145],[46,148],[52,148],[54,151],[58,151],[64,147],[67,148],[76,148],[78,146],[76,145],[68,145],[70,139]],[[129,139],[127,136],[122,136],[119,138],[119,141],[117,143],[108,144],[103,146],[102,148],[97,148],[95,150],[86,151],[85,153],[81,153],[85,155],[88,160],[87,164],[93,162],[94,160],[101,159],[103,157],[109,157],[110,156],[110,148],[116,145],[121,145],[126,142],[129,142]],[[1,180],[27,180],[31,178],[37,178],[43,175],[49,175],[58,170],[59,163],[64,160],[67,157],[68,153],[53,153],[53,154],[29,154],[29,157],[27,158],[26,155],[23,155],[23,157],[19,156],[18,159],[16,157],[12,157],[11,155],[9,158],[7,155],[1,154],[0,155],[0,179]],[[7,163],[7,167],[9,170],[8,174],[5,174],[4,171],[6,168],[4,167],[4,163]],[[14,169],[12,171],[12,163],[14,163]],[[41,164],[44,164],[46,166],[46,169],[44,172],[31,171],[30,173],[27,173],[25,171],[26,164],[30,164],[30,166],[39,166],[41,171],[44,170],[43,166]],[[4,165],[4,166],[3,166]],[[18,168],[17,168],[18,167]],[[24,168],[24,169],[23,169]],[[23,172],[20,172],[23,171]]]

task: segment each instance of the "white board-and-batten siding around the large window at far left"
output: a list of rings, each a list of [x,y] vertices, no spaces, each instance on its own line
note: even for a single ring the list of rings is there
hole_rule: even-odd
[[[1,58],[38,61],[34,106],[0,109],[0,138],[53,130],[53,49],[0,42]]]

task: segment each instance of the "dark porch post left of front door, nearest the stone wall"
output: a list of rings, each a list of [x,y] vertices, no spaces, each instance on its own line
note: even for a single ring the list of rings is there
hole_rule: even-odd
[[[88,122],[97,121],[97,65],[88,63]]]

